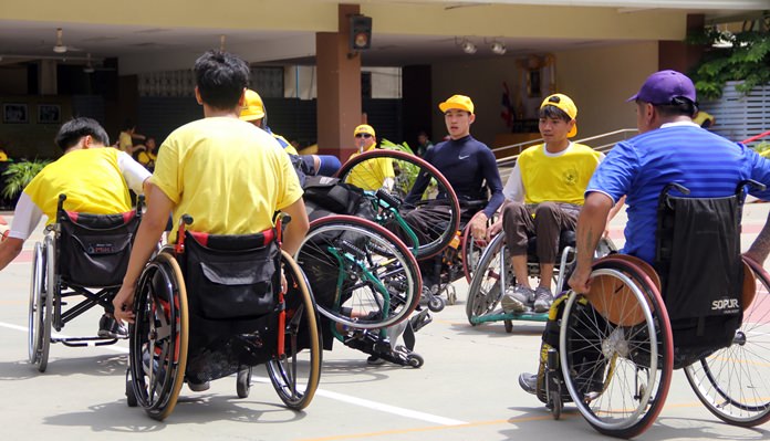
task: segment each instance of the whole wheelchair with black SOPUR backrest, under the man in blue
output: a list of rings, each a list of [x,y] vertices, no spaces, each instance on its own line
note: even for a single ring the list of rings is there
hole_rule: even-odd
[[[770,276],[740,255],[746,185],[725,198],[659,198],[654,267],[629,255],[594,263],[591,292],[554,302],[543,334],[538,397],[572,401],[597,431],[644,432],[681,368],[727,423],[770,420]]]

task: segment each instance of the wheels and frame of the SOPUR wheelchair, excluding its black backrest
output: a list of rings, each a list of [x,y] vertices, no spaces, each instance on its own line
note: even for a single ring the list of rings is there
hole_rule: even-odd
[[[741,182],[738,198],[747,183],[752,185]],[[555,419],[563,402],[573,401],[599,432],[633,438],[656,420],[673,370],[681,367],[700,402],[720,420],[740,427],[770,421],[770,348],[763,338],[770,335],[770,275],[750,259],[742,264],[742,316],[731,342],[680,351],[652,266],[629,255],[600,259],[591,293],[570,291],[561,315],[561,306],[551,309],[560,323],[559,348],[545,342],[541,349],[538,397]]]

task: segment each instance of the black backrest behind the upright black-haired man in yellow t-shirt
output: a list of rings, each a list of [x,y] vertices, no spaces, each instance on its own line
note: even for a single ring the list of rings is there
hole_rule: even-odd
[[[178,259],[190,313],[199,317],[253,318],[277,307],[281,250],[272,229],[246,235],[187,230]]]

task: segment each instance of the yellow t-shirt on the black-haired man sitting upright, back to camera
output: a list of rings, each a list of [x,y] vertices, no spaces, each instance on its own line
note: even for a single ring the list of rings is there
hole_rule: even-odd
[[[174,130],[160,146],[150,182],[176,204],[190,230],[249,234],[273,225],[273,213],[302,197],[289,156],[268,133],[230,117],[210,117]]]

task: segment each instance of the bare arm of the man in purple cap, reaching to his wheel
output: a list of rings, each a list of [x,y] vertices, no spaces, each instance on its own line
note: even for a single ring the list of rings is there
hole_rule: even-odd
[[[592,191],[585,197],[575,233],[576,266],[569,282],[570,286],[579,293],[589,292],[593,254],[599,240],[604,234],[607,216],[613,206],[612,198],[597,191]]]

